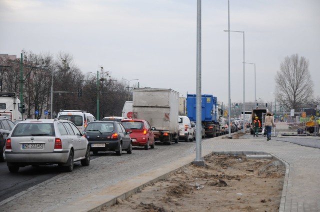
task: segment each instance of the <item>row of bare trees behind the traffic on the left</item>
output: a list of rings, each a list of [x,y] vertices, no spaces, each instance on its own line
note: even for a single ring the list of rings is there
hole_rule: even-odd
[[[59,52],[35,54],[22,51],[23,103],[27,117],[38,110],[56,114],[61,110],[87,110],[96,117],[97,74],[81,73],[70,54]],[[20,58],[0,57],[0,89],[20,95]],[[53,105],[50,89],[53,79]],[[99,117],[119,116],[123,104],[132,99],[127,81],[114,79],[108,71],[99,70]],[[82,89],[81,96],[78,89]],[[24,116],[25,117],[25,116]],[[43,117],[42,117],[43,118]]]

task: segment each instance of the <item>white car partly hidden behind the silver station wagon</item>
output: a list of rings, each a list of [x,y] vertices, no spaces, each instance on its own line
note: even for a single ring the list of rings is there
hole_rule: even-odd
[[[57,118],[66,118],[82,133],[87,123],[96,121],[91,113],[83,110],[63,110],[58,113]]]

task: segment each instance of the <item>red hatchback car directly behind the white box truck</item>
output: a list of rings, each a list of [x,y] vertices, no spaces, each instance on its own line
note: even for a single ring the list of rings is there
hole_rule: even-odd
[[[149,122],[142,119],[123,119],[121,124],[125,130],[131,131],[132,146],[143,146],[145,150],[154,149],[154,134]]]

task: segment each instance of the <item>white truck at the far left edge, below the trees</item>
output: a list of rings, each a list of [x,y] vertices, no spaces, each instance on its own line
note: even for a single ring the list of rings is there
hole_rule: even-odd
[[[15,92],[0,92],[0,116],[5,116],[13,122],[22,119],[20,100]]]

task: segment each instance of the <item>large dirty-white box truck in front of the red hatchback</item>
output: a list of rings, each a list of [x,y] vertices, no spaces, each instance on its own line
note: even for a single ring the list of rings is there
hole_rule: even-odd
[[[132,118],[148,121],[154,140],[178,143],[179,93],[172,89],[134,88]]]

